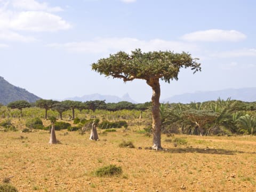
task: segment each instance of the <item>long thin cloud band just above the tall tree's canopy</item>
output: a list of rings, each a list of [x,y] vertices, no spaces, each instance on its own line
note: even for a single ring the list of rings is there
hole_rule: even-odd
[[[196,45],[174,41],[164,41],[162,39],[151,39],[142,41],[136,38],[97,38],[94,41],[71,42],[65,44],[49,44],[47,46],[66,49],[73,52],[83,53],[115,53],[117,51],[130,52],[140,48],[143,52],[148,51],[195,51]]]

